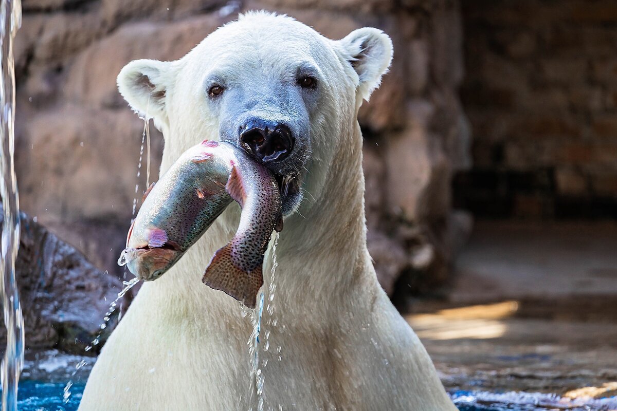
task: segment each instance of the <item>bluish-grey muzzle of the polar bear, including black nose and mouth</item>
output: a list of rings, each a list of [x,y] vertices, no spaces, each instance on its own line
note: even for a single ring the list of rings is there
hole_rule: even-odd
[[[307,106],[312,97],[289,81],[263,78],[251,81],[251,87],[242,84],[228,82],[225,92],[211,102],[219,118],[219,138],[244,149],[275,175],[283,214],[288,216],[300,206],[312,153]]]

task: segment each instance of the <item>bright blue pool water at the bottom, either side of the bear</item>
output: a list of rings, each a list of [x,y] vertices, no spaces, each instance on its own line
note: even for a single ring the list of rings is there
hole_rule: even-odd
[[[19,384],[18,407],[20,411],[77,411],[84,384],[72,386],[72,395],[68,403],[62,401],[64,383],[44,383],[40,381],[22,381]],[[604,399],[592,406],[567,407],[551,404],[558,402],[558,397],[550,394],[491,394],[457,391],[450,394],[460,411],[602,411],[613,410],[615,399]],[[543,404],[543,405],[537,405]]]

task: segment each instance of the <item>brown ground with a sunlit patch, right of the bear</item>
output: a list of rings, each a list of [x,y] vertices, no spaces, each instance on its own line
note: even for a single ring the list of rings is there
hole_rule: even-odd
[[[616,228],[476,224],[447,298],[407,316],[446,388],[617,395]]]

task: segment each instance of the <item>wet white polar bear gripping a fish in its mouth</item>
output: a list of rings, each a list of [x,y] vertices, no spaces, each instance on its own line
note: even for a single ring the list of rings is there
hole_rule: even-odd
[[[456,410],[366,250],[357,113],[391,59],[391,39],[375,28],[333,41],[290,17],[251,12],[180,60],[123,68],[120,92],[164,134],[161,173],[204,138],[234,142],[286,183],[284,229],[275,287],[270,252],[264,265],[271,307],[257,343],[259,383],[247,346],[253,314],[201,282],[234,234],[234,205],[144,283],[80,410],[249,410],[260,401],[264,410]]]

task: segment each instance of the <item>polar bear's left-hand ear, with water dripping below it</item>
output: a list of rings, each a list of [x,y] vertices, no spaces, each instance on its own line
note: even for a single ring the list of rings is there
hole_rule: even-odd
[[[172,83],[172,63],[158,60],[134,60],[120,70],[118,91],[141,115],[166,120],[165,96]]]

